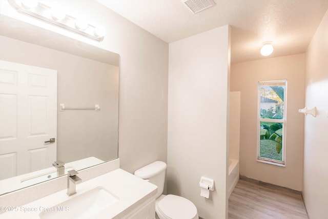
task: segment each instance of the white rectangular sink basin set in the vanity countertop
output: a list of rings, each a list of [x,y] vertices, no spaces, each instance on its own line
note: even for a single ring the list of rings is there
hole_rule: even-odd
[[[40,218],[89,218],[118,202],[119,198],[104,187],[96,187],[39,213]],[[49,209],[48,209],[49,210]]]

